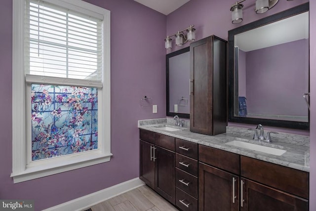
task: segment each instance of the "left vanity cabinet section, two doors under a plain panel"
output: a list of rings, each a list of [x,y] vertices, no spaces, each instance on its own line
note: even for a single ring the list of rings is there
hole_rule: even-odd
[[[140,179],[175,205],[175,138],[140,129]]]

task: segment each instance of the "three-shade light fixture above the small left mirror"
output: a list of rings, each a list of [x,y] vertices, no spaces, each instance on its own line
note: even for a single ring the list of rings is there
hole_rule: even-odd
[[[166,49],[171,48],[172,39],[170,37],[172,36],[176,38],[176,46],[181,46],[185,44],[186,42],[194,42],[196,40],[196,35],[195,35],[196,29],[193,27],[194,25],[192,26],[190,25],[188,28],[182,31],[178,31],[177,33],[174,33],[171,36],[167,36],[166,39],[164,40],[164,47]],[[184,34],[184,31],[187,32],[187,35]]]

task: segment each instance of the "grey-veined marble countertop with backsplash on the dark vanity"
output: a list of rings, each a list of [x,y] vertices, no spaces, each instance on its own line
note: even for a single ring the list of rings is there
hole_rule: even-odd
[[[186,121],[187,122],[187,121]],[[166,131],[159,127],[168,126],[181,130]],[[185,127],[177,127],[173,125],[173,120],[170,118],[140,120],[138,128],[150,130],[153,132],[169,135],[175,138],[191,141],[194,143],[210,146],[213,148],[233,152],[239,155],[244,155],[258,160],[267,161],[293,169],[310,171],[309,167],[309,152],[310,152],[310,137],[304,135],[294,135],[288,133],[271,134],[272,143],[253,140],[253,130],[243,127],[227,127],[226,133],[211,136],[190,131],[189,124]],[[265,131],[266,134],[266,131]],[[249,150],[241,147],[227,145],[226,143],[233,140],[240,140],[248,143],[259,144],[263,146],[284,149],[286,152],[281,156],[276,156],[259,151]]]

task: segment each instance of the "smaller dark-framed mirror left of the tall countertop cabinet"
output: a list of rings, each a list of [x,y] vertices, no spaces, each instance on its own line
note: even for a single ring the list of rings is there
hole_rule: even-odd
[[[166,55],[167,116],[190,118],[190,47]]]

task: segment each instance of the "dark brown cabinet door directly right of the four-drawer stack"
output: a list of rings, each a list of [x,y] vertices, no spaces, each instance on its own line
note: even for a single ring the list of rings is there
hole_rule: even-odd
[[[199,163],[198,210],[238,211],[239,177]]]

